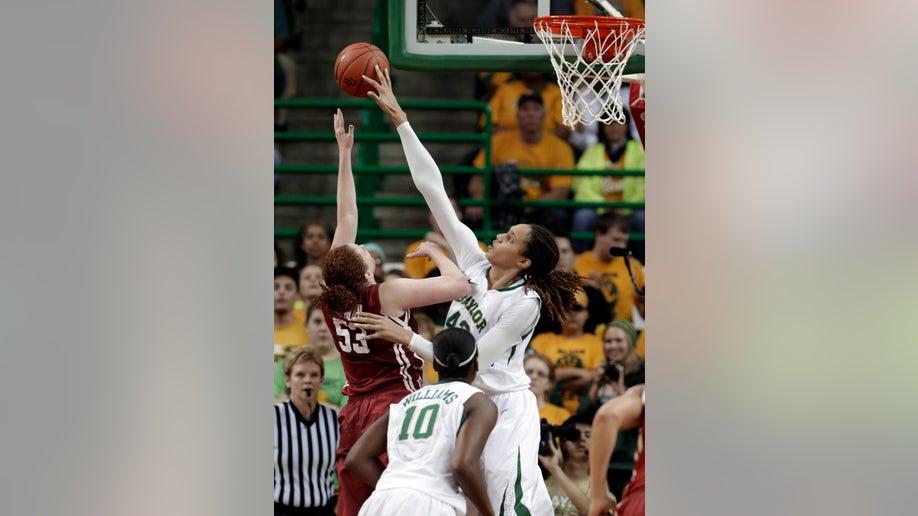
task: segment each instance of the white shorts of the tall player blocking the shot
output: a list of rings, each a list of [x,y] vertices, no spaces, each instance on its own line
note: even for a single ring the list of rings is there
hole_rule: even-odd
[[[535,395],[525,390],[490,398],[497,405],[497,424],[481,453],[481,463],[494,514],[525,514],[519,510],[525,507],[532,516],[552,516],[551,498],[539,470]]]

